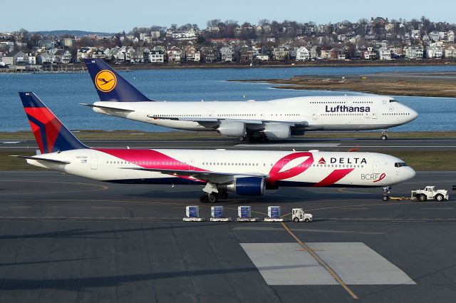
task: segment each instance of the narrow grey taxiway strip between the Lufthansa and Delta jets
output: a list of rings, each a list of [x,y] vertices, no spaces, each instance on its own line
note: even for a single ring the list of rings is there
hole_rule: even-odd
[[[327,151],[346,151],[358,147],[361,151],[391,150],[456,150],[456,139],[394,139],[387,141],[379,139],[316,139],[316,138],[293,138],[290,140],[271,140],[264,143],[239,142],[237,139],[213,138],[213,139],[178,139],[178,140],[84,140],[83,143],[92,148],[228,148],[228,149],[251,149],[251,150],[276,150],[278,148],[291,150],[319,149]],[[38,149],[35,140],[1,139],[0,151],[31,151]]]

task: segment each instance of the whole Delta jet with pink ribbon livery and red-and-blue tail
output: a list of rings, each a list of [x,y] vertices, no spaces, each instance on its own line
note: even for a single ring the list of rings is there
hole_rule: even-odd
[[[111,183],[203,185],[201,202],[279,187],[385,190],[415,175],[402,160],[381,153],[88,148],[37,96],[19,95],[41,151],[19,156],[29,164]]]

